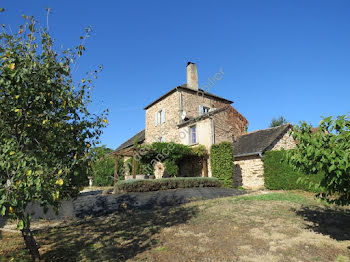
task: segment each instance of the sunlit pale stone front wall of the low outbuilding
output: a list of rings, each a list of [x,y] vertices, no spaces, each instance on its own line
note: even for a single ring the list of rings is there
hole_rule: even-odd
[[[259,156],[235,159],[234,185],[249,189],[264,187],[264,163]]]

